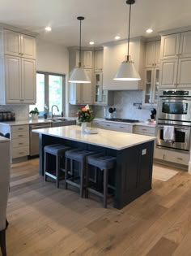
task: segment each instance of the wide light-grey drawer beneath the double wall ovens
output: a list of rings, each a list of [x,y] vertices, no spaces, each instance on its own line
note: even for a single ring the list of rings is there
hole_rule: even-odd
[[[172,163],[189,165],[189,154],[183,154],[183,153],[179,153],[171,150],[162,150],[162,149],[155,148],[154,158],[172,162]]]

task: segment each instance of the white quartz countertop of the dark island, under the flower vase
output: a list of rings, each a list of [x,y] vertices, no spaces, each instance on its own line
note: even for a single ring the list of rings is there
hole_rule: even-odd
[[[78,125],[43,128],[33,130],[33,132],[69,139],[71,141],[84,142],[91,145],[99,145],[112,150],[124,150],[134,145],[155,140],[155,137],[128,132],[114,132],[104,129],[98,129],[97,134],[87,134],[81,132],[81,128]]]

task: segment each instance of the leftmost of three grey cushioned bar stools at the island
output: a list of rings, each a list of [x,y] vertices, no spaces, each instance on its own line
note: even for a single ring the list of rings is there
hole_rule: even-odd
[[[62,144],[53,144],[53,145],[45,145],[45,167],[44,167],[44,180],[46,180],[46,176],[51,177],[56,180],[57,189],[59,188],[60,181],[60,171],[65,171],[64,168],[61,167],[62,158],[65,160],[66,150],[71,150],[70,147]],[[48,161],[47,154],[53,154],[56,157],[56,169],[52,171],[47,170]],[[56,174],[53,174],[53,171],[56,171]]]

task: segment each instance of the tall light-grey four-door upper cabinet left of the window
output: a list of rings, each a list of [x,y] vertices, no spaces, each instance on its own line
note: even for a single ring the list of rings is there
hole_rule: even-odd
[[[35,37],[7,29],[0,35],[0,104],[36,103]]]

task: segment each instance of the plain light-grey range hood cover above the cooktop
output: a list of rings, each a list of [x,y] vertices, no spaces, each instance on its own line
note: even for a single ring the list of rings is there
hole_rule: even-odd
[[[141,39],[130,41],[129,54],[131,60],[134,61],[134,66],[139,72],[139,75],[143,79],[143,66],[145,64],[145,45]],[[134,90],[142,89],[143,81],[121,81],[113,80],[117,74],[117,70],[120,64],[125,61],[125,55],[127,54],[127,42],[118,42],[117,45],[108,44],[104,46],[104,77],[103,77],[103,89],[108,90]]]

